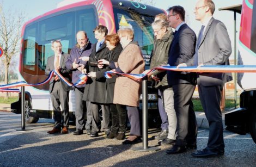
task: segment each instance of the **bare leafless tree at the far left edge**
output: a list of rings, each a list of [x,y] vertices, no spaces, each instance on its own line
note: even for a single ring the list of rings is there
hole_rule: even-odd
[[[4,64],[4,84],[9,83],[9,66],[11,58],[19,53],[19,42],[21,25],[24,19],[24,13],[17,13],[15,10],[3,11],[3,2],[0,3],[0,46],[3,48],[3,64]],[[8,93],[4,96],[8,98]]]

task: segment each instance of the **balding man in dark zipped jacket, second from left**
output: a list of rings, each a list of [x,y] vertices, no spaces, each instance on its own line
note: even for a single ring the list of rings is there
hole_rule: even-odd
[[[76,33],[77,44],[72,48],[70,56],[66,61],[66,68],[72,71],[72,83],[76,83],[82,74],[87,61],[82,61],[81,57],[89,57],[92,53],[93,45],[87,38],[86,32],[80,30]],[[74,88],[76,99],[76,131],[74,135],[83,134],[83,128],[86,127],[87,134],[90,135],[92,127],[92,112],[90,111],[90,102],[86,101],[86,112],[84,112],[83,92],[86,84],[77,85]],[[87,114],[86,124],[84,114]]]

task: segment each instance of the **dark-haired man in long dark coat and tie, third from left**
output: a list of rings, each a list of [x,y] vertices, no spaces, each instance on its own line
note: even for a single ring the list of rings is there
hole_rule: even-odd
[[[98,137],[99,131],[104,131],[105,135],[108,135],[110,132],[110,104],[106,101],[107,79],[103,77],[107,66],[103,66],[102,69],[99,69],[97,66],[98,60],[107,60],[108,58],[109,50],[105,44],[107,33],[108,29],[106,26],[99,25],[95,27],[94,35],[97,43],[93,46],[92,54],[90,54],[90,57],[81,57],[83,61],[88,61],[86,68],[88,77],[90,77],[83,95],[83,100],[91,102],[90,108],[93,119],[90,137]],[[99,106],[101,106],[102,109],[102,122],[99,118]]]

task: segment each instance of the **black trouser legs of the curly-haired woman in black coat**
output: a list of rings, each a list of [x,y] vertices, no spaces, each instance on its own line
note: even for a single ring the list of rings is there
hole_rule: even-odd
[[[126,125],[127,125],[127,112],[126,106],[121,104],[111,104],[110,111],[112,117],[112,126],[111,132],[117,133],[119,132],[126,132]]]

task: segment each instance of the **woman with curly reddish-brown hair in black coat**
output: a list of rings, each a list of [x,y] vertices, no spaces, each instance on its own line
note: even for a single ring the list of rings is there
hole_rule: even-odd
[[[107,35],[105,38],[105,43],[109,50],[108,58],[107,60],[99,60],[98,67],[99,69],[102,69],[104,65],[107,65],[107,68],[103,70],[108,71],[115,69],[115,63],[118,61],[118,57],[123,48],[120,45],[118,34]],[[110,110],[112,116],[111,131],[107,135],[107,139],[116,138],[117,140],[123,140],[125,138],[126,131],[126,110],[125,106],[123,105],[113,104],[115,79],[116,77],[107,79],[106,85],[106,102],[111,103]]]

